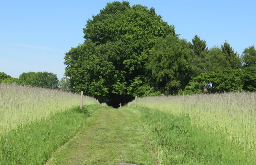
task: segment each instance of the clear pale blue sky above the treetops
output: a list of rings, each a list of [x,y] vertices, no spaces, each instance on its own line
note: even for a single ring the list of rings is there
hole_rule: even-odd
[[[111,0],[3,0],[0,4],[0,72],[52,72],[61,79],[64,56],[84,42],[83,28]],[[225,40],[239,55],[256,46],[255,0],[130,0],[154,7],[188,41],[199,35],[209,48]]]

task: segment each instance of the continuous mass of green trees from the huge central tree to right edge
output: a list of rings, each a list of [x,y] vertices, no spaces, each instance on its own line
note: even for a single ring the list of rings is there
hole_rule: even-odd
[[[198,35],[180,39],[154,8],[107,3],[87,21],[85,42],[65,55],[70,90],[100,102],[139,97],[255,90],[255,48],[242,57],[225,42],[208,49]]]

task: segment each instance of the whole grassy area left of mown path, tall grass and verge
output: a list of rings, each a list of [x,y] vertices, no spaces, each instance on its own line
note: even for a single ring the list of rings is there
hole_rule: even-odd
[[[43,165],[101,105],[94,98],[30,86],[0,84],[0,164]]]

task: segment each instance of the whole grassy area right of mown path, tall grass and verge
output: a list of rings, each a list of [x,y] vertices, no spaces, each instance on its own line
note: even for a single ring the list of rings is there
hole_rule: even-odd
[[[136,107],[160,165],[256,164],[255,92],[139,98]]]

